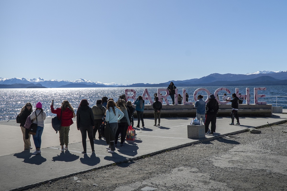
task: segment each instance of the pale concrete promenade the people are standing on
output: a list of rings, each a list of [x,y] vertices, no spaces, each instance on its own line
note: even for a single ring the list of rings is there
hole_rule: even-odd
[[[46,119],[42,135],[42,153],[31,155],[23,151],[24,143],[19,124],[15,120],[0,121],[2,139],[0,140],[0,190],[21,190],[50,180],[57,180],[79,172],[137,159],[164,150],[175,149],[216,139],[225,135],[246,131],[250,127],[277,124],[287,121],[286,112],[272,117],[240,117],[241,125],[229,125],[230,117],[218,117],[216,133],[203,139],[188,139],[187,125],[191,118],[164,118],[160,127],[155,127],[154,119],[144,119],[146,128],[135,128],[136,140],[127,141],[124,147],[116,147],[116,153],[106,151],[106,141],[94,140],[95,153],[92,154],[87,141],[87,154],[82,154],[82,138],[76,125],[70,127],[69,151],[61,153],[59,134],[51,126],[51,118]],[[135,121],[135,124],[137,121]],[[238,135],[240,136],[240,134]],[[97,137],[97,135],[96,135]],[[32,147],[34,142],[31,137]],[[118,143],[119,145],[119,143]]]

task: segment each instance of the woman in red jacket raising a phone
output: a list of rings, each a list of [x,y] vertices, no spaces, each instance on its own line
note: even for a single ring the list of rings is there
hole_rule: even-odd
[[[51,112],[57,114],[57,117],[61,119],[61,129],[59,131],[60,145],[62,147],[61,152],[64,152],[64,150],[67,151],[69,144],[70,125],[74,123],[72,118],[75,117],[74,108],[71,106],[69,101],[65,100],[62,102],[61,108],[54,109],[54,100],[52,100]],[[65,148],[64,144],[66,145]]]

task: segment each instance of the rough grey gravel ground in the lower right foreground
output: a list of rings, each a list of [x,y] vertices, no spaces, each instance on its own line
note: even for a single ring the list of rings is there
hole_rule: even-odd
[[[282,132],[287,126],[272,128],[146,156],[29,190],[287,190],[287,133]]]

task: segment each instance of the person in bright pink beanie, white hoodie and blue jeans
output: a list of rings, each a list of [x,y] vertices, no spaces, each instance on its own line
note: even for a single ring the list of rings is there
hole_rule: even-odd
[[[34,140],[36,150],[34,153],[32,153],[32,155],[36,155],[36,154],[41,153],[41,150],[40,150],[41,143],[42,143],[41,137],[42,137],[42,133],[44,130],[44,121],[46,119],[46,113],[42,109],[42,103],[41,102],[38,102],[36,104],[36,110],[31,113],[30,119],[31,119],[32,123],[37,124],[36,135],[33,135],[33,140]]]

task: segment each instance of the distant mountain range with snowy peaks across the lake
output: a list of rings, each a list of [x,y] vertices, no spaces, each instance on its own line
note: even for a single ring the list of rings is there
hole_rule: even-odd
[[[258,71],[247,74],[210,74],[202,78],[189,80],[171,80],[178,87],[180,86],[272,86],[287,85],[287,70],[285,71]],[[92,82],[82,78],[69,80],[44,80],[43,78],[0,78],[0,88],[27,88],[33,86],[45,86],[48,88],[95,88],[95,87],[167,87],[171,81],[159,84],[103,84]]]

